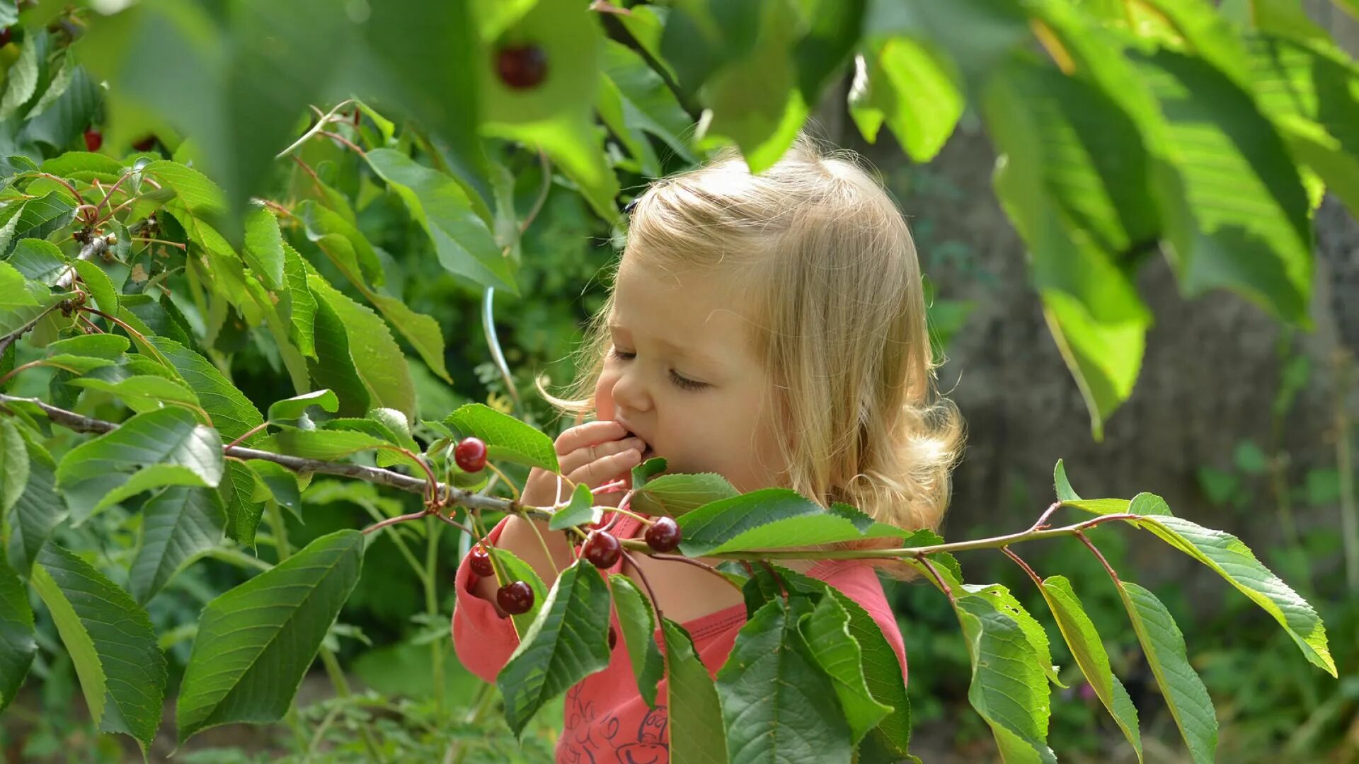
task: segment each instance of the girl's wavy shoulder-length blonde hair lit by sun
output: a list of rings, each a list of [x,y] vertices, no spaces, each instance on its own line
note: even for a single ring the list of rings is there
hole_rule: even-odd
[[[935,392],[911,232],[853,152],[803,133],[753,175],[723,150],[637,198],[624,257],[739,275],[731,281],[746,285],[756,352],[775,385],[772,413],[790,434],[780,439],[788,488],[908,530],[939,527],[964,423]],[[567,397],[540,385],[564,412],[594,411],[612,310],[610,295]]]

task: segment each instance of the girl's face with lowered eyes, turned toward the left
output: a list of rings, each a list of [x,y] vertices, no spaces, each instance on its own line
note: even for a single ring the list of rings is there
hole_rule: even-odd
[[[777,485],[783,465],[766,408],[773,386],[730,287],[624,257],[595,413],[646,440],[643,458],[665,457],[667,472],[716,472],[752,491]]]

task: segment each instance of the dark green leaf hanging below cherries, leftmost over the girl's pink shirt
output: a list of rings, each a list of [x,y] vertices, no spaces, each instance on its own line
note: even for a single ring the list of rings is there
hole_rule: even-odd
[[[609,665],[609,587],[586,560],[561,572],[542,610],[496,677],[519,735],[544,703]]]

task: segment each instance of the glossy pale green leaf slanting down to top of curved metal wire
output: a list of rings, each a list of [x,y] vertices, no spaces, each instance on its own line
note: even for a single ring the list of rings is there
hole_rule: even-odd
[[[514,268],[457,181],[390,148],[366,155],[368,166],[401,196],[434,241],[439,264],[487,287],[518,294]]]

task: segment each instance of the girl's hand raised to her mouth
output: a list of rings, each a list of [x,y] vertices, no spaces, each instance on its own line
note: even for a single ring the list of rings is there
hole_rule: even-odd
[[[571,496],[571,485],[584,483],[598,488],[605,483],[628,479],[629,470],[641,464],[641,451],[647,445],[637,436],[628,436],[617,421],[587,421],[578,424],[556,440],[557,464],[561,474],[571,481],[561,481],[561,495],[557,496],[557,476],[538,468],[529,473],[520,503],[530,507],[548,507]],[[622,492],[605,493],[595,498],[595,504],[617,506]]]

